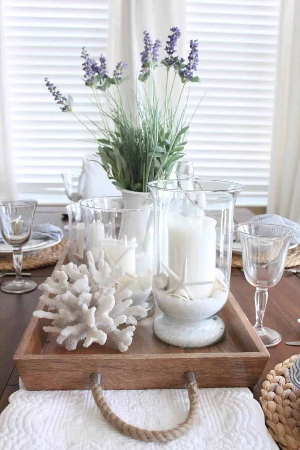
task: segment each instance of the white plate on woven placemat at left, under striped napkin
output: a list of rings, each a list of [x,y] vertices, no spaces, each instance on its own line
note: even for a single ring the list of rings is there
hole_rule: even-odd
[[[22,246],[23,254],[30,255],[31,253],[36,253],[38,250],[41,250],[42,248],[52,247],[53,245],[60,243],[63,239],[63,231],[62,230],[60,231],[61,233],[58,234],[58,236],[56,236],[55,238],[47,233],[38,233],[34,231],[32,233],[30,241],[26,245]],[[12,252],[13,247],[5,244],[4,242],[0,242],[1,257],[11,256]]]

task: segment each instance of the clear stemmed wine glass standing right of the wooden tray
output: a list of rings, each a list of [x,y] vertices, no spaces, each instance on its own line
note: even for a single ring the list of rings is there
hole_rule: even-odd
[[[281,341],[281,335],[264,327],[264,311],[268,301],[268,288],[277,284],[283,274],[287,251],[294,231],[285,226],[243,224],[237,227],[242,244],[244,274],[255,286],[254,329],[266,347]]]

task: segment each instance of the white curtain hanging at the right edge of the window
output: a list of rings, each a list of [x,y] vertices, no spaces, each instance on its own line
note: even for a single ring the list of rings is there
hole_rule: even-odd
[[[300,222],[300,1],[282,0],[268,212]]]

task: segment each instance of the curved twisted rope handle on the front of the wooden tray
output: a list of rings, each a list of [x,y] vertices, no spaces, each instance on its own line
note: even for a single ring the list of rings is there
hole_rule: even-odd
[[[101,387],[101,375],[93,373],[90,375],[90,388],[93,393],[94,400],[104,419],[116,428],[119,432],[126,436],[133,437],[139,441],[146,442],[167,442],[173,441],[178,437],[184,436],[191,428],[197,424],[197,418],[200,410],[198,387],[194,372],[188,371],[184,373],[185,387],[188,390],[188,398],[190,407],[188,417],[184,423],[180,423],[177,427],[170,430],[146,430],[134,427],[129,423],[121,420],[108,406]]]

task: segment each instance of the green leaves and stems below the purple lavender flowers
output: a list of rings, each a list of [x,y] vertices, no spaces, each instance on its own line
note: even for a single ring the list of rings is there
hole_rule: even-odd
[[[177,62],[177,57],[174,61]],[[184,156],[189,128],[185,117],[186,105],[180,114],[178,110],[188,81],[181,71],[185,65],[168,65],[165,60],[161,63],[166,66],[166,93],[161,108],[153,77],[156,66],[150,65],[147,72],[139,75],[143,92],[135,93],[132,90],[128,94],[127,100],[130,97],[134,99],[135,114],[125,112],[123,107],[120,85],[126,78],[118,81],[115,77],[107,77],[103,82],[95,77],[95,83],[90,86],[101,117],[101,122],[89,119],[97,129],[92,131],[94,142],[98,144],[101,166],[112,183],[120,189],[147,192],[149,181],[169,178],[175,162]],[[171,72],[174,78],[171,86],[168,86]],[[173,111],[173,87],[178,76],[183,85]],[[190,81],[200,80],[194,77]],[[105,108],[100,102],[99,91],[105,98]],[[72,105],[72,98],[68,98],[68,102]]]

